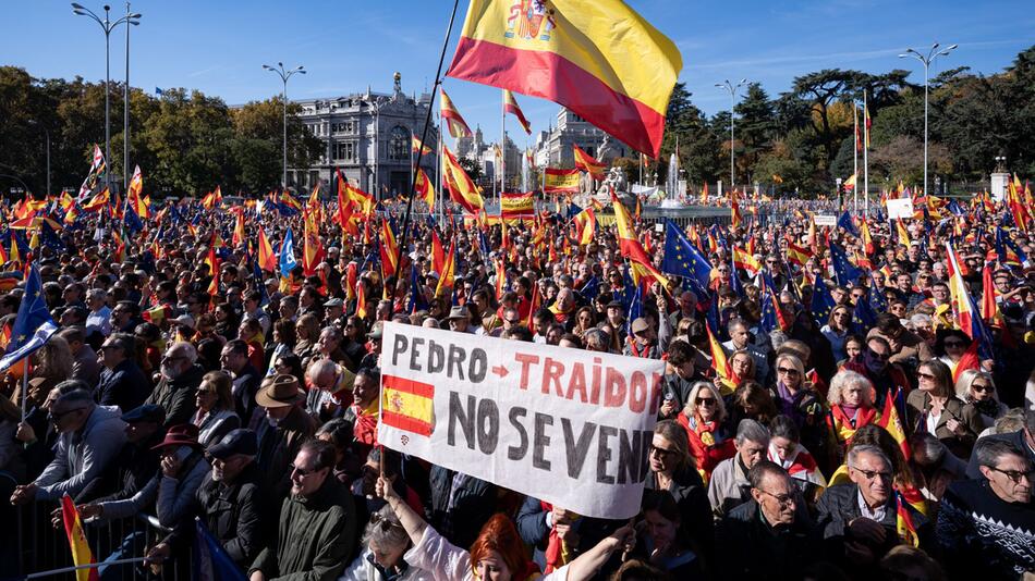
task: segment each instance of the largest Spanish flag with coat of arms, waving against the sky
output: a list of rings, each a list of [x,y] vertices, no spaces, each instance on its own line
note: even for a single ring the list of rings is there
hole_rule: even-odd
[[[449,76],[549,99],[656,158],[682,67],[621,0],[471,0]]]

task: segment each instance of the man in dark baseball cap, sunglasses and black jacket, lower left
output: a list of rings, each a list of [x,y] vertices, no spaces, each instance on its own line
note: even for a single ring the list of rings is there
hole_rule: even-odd
[[[208,448],[211,478],[205,480],[195,499],[198,518],[241,569],[252,565],[261,545],[256,454],[258,440],[255,432],[244,429],[228,432]],[[160,561],[172,554],[181,554],[191,537],[178,528],[155,545],[147,557]]]

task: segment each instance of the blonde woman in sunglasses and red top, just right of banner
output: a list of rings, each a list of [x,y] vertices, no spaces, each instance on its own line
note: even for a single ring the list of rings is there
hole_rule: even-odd
[[[675,418],[686,430],[690,455],[705,482],[711,478],[711,471],[719,462],[732,458],[736,453],[733,438],[722,429],[724,419],[722,397],[715,385],[704,381],[694,384],[686,407]]]

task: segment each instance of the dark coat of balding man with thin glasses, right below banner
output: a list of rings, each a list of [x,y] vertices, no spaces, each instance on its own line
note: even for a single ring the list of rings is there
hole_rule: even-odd
[[[719,579],[801,579],[804,569],[821,557],[816,541],[812,522],[799,519],[774,529],[751,499],[719,521],[714,569]],[[744,558],[746,547],[751,558]]]

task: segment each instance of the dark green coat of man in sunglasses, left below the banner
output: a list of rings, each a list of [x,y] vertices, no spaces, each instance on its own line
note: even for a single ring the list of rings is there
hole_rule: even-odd
[[[352,561],[358,524],[352,495],[328,474],[313,496],[284,499],[277,534],[248,576],[258,570],[266,579],[333,581]]]

